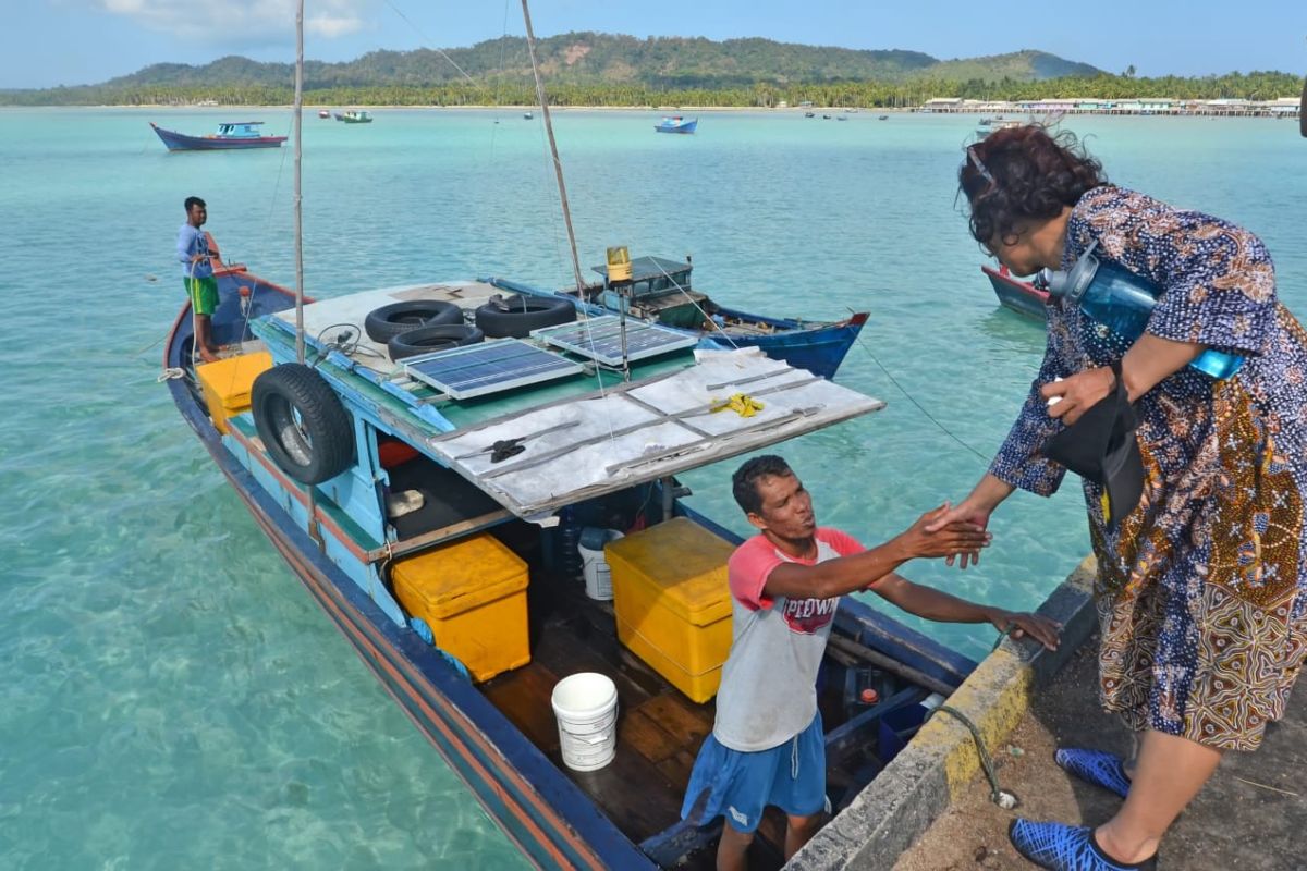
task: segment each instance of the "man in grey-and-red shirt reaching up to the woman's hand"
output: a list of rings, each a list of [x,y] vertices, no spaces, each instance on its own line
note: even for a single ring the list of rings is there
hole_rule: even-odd
[[[786,859],[817,832],[826,807],[826,744],[817,669],[839,597],[873,590],[910,614],[945,623],[992,623],[1013,637],[1057,646],[1057,626],[1031,614],[974,605],[894,573],[916,556],[988,546],[978,525],[927,531],[948,507],[923,515],[885,545],[818,528],[812,496],[776,456],[754,457],[732,478],[736,501],[759,534],[729,562],[733,640],[721,667],[718,716],[690,774],[682,819],[725,817],[718,868],[745,868],[767,804],[788,816]]]

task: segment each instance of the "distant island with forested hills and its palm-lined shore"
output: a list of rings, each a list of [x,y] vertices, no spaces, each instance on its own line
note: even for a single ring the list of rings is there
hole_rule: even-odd
[[[1068,98],[1273,101],[1302,78],[1281,72],[1137,77],[1042,51],[940,60],[916,51],[567,33],[537,42],[552,104],[915,107],[931,98],[1023,102]],[[454,63],[451,63],[451,60]],[[454,64],[467,72],[463,76]],[[5,106],[281,106],[291,64],[230,56],[154,64],[98,85],[0,90]],[[443,52],[374,51],[348,63],[305,63],[310,106],[524,106],[536,101],[525,39],[503,37]]]

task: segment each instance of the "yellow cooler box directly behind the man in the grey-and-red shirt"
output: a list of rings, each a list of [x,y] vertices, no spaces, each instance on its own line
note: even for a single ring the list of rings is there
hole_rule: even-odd
[[[731,542],[685,517],[604,547],[617,637],[694,701],[716,695],[731,652],[732,551]]]

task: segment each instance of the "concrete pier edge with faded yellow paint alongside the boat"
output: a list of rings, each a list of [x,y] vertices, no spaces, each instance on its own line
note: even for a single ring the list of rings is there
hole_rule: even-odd
[[[949,706],[980,730],[991,755],[1030,708],[1031,688],[1055,675],[1093,633],[1094,573],[1094,558],[1089,556],[1039,607],[1039,614],[1063,624],[1057,650],[1044,650],[1033,641],[1004,640],[949,697]],[[979,773],[980,757],[966,726],[945,714],[932,717],[786,867],[889,871]]]

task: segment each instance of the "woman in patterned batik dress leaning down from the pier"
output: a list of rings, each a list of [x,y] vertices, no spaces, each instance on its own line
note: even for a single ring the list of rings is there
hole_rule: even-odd
[[[1133,342],[1072,303],[1050,303],[1026,404],[946,518],[984,524],[1014,488],[1056,491],[1065,470],[1040,448],[1114,392],[1120,363],[1144,495],[1110,529],[1102,487],[1084,488],[1102,700],[1134,730],[1137,756],[1060,750],[1064,768],[1124,804],[1095,829],[1018,819],[1009,836],[1047,868],[1154,867],[1158,842],[1222,752],[1255,750],[1283,714],[1307,650],[1307,333],[1277,299],[1255,235],[1107,184],[1068,133],[996,132],[967,149],[959,184],[972,235],[1012,272],[1068,269],[1097,243],[1100,260],[1161,289]],[[1246,362],[1216,380],[1188,367],[1205,349]]]

